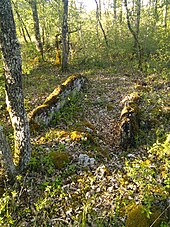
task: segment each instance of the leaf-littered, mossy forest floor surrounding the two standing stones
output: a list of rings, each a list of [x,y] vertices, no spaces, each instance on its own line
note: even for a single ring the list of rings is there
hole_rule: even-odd
[[[116,68],[78,73],[87,77],[86,88],[50,127],[31,133],[29,169],[6,188],[10,205],[8,212],[1,207],[0,221],[11,223],[7,226],[168,226],[168,76]],[[69,75],[48,64],[25,75],[27,112]],[[137,146],[124,150],[121,101],[133,92],[141,95],[142,128]],[[2,119],[8,125],[5,111]]]

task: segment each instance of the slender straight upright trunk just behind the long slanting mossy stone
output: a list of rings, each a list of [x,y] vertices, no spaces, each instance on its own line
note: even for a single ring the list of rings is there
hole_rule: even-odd
[[[68,0],[63,1],[63,24],[62,24],[62,71],[68,69]]]

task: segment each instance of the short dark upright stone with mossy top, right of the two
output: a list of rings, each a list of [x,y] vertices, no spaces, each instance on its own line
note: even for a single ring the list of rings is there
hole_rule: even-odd
[[[120,115],[120,145],[124,149],[136,145],[139,132],[138,93],[132,93],[122,100],[123,109]]]

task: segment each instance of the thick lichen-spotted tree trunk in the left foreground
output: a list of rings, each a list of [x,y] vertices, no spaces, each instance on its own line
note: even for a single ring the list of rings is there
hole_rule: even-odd
[[[14,161],[23,170],[31,156],[30,131],[22,91],[21,53],[10,0],[0,2],[0,43],[4,60],[6,104],[14,129]]]

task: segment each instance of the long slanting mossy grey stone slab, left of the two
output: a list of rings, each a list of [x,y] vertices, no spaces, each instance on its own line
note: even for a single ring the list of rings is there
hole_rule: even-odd
[[[30,125],[49,125],[58,112],[68,101],[84,86],[87,78],[82,75],[70,76],[63,84],[58,86],[44,101],[44,103],[35,108],[30,114]]]

